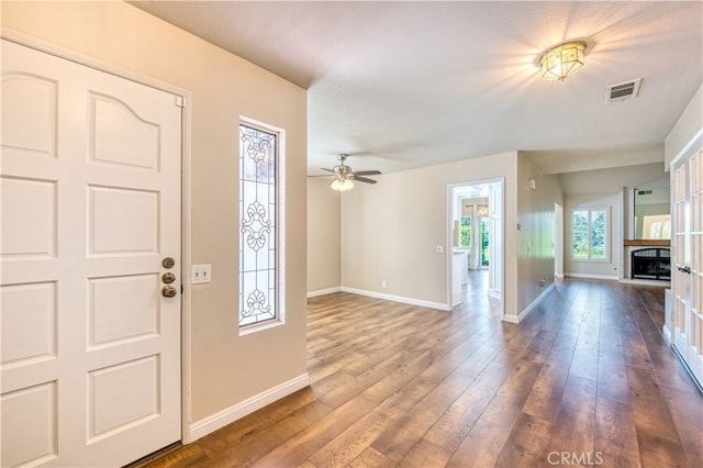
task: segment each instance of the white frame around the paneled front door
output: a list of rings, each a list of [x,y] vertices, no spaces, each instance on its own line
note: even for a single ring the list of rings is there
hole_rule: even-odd
[[[191,130],[191,92],[187,89],[179,88],[177,86],[146,77],[144,75],[136,74],[134,71],[125,70],[114,65],[98,60],[93,57],[82,55],[75,51],[70,51],[64,47],[59,47],[46,41],[38,40],[36,37],[20,33],[9,27],[2,27],[0,30],[0,37],[10,42],[23,45],[29,48],[51,54],[66,60],[74,62],[79,65],[83,65],[100,71],[114,75],[120,78],[127,79],[141,85],[148,86],[161,91],[166,91],[171,94],[176,94],[182,100],[182,118],[181,118],[181,442],[187,444],[191,442],[189,427],[191,423],[191,404],[187,398],[190,392],[190,319],[191,319],[191,303],[190,303],[190,278],[188,275],[190,266],[190,238],[191,238],[191,218],[190,218],[190,130]]]

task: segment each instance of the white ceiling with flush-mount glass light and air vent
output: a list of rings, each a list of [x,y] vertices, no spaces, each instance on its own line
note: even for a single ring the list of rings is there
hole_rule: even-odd
[[[701,1],[131,3],[306,88],[310,175],[338,153],[383,171],[514,149],[543,174],[662,161],[703,81]],[[584,67],[540,78],[572,38]]]

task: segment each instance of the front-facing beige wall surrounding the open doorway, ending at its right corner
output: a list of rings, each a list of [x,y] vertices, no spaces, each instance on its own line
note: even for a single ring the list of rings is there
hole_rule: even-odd
[[[392,172],[342,194],[342,285],[447,305],[448,185],[505,178],[506,225],[516,223],[516,153]],[[436,246],[445,253],[437,254]],[[505,235],[505,309],[515,313],[516,237]],[[387,288],[381,282],[387,282]],[[512,291],[512,293],[511,293]]]

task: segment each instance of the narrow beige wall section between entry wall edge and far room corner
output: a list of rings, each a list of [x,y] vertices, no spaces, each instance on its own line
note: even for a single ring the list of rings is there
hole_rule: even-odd
[[[342,286],[339,198],[326,178],[308,179],[309,294],[331,292]]]

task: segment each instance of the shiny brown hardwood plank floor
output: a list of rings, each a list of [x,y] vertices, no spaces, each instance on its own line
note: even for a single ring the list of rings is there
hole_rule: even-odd
[[[310,299],[310,387],[149,466],[703,466],[662,288],[565,280],[514,325],[484,281],[454,312]]]

